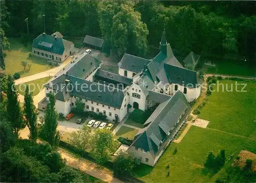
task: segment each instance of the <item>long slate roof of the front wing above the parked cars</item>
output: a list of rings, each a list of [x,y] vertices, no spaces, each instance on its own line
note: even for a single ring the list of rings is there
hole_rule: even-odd
[[[69,88],[68,93],[66,93],[66,87],[68,86],[65,86],[65,84],[67,84],[65,81],[66,79],[69,80],[69,83],[74,86],[73,89]],[[120,109],[124,98],[124,93],[120,89],[92,81],[87,81],[67,74],[62,74],[61,76],[54,79],[51,83],[53,87],[55,86],[55,89],[57,86],[60,88],[61,84],[62,86],[65,86],[62,88],[62,90],[59,89],[59,92],[56,94],[56,99],[61,101],[66,101],[68,96],[75,96]]]

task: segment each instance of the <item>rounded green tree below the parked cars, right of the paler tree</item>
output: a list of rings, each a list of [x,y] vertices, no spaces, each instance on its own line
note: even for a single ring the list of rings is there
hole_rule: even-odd
[[[90,155],[98,164],[103,164],[110,159],[114,148],[113,133],[107,129],[96,129],[91,138]]]

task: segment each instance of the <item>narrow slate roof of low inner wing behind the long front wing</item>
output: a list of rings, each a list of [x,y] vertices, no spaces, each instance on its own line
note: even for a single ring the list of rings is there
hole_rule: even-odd
[[[133,80],[130,79],[130,78],[126,78],[126,77],[120,76],[118,74],[114,74],[114,73],[104,71],[104,70],[101,70],[101,69],[98,69],[96,71],[95,76],[99,76],[99,77],[102,77],[102,78],[113,80],[113,81],[116,81],[118,83],[123,83],[125,85],[131,85],[132,82],[133,82]]]

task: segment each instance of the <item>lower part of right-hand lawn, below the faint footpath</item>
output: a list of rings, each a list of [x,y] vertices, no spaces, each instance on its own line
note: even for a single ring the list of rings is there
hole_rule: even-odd
[[[176,155],[175,147],[178,150]],[[181,143],[172,143],[155,167],[141,165],[135,170],[135,175],[145,182],[214,182],[224,168],[216,175],[210,176],[203,172],[203,167],[207,153],[213,151],[217,154],[221,149],[225,149],[226,158],[231,154],[236,157],[242,149],[255,153],[256,141],[191,126]],[[166,168],[167,164],[169,168]]]

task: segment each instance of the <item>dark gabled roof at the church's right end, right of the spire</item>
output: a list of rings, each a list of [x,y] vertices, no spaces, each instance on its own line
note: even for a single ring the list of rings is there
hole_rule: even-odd
[[[195,71],[167,63],[164,63],[164,70],[169,83],[177,83],[188,88],[195,88],[198,87],[199,84],[202,84],[202,81],[199,79],[198,74]]]

